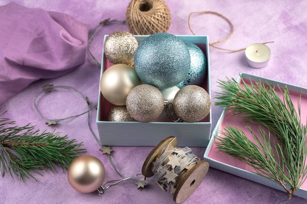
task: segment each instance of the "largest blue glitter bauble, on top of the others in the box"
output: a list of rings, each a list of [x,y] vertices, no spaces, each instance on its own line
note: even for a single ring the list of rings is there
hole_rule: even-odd
[[[159,90],[179,84],[188,74],[190,62],[187,46],[169,33],[150,35],[140,43],[134,56],[137,75]]]

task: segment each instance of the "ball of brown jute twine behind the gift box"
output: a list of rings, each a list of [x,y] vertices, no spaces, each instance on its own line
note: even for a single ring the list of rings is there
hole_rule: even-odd
[[[128,29],[133,35],[167,32],[171,13],[164,0],[131,0],[126,11]]]

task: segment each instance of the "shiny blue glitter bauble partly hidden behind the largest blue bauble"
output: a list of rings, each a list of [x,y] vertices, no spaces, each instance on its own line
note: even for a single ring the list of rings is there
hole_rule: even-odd
[[[191,66],[189,73],[177,85],[179,89],[187,85],[201,85],[207,70],[207,60],[201,48],[190,42],[185,42],[185,45],[190,52]]]

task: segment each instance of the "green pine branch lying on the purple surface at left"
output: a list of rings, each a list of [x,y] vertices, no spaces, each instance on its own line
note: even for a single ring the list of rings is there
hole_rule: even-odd
[[[3,115],[3,114],[2,114]],[[34,173],[42,175],[40,170],[56,170],[60,166],[68,169],[69,164],[84,152],[82,143],[76,139],[60,136],[60,133],[40,132],[27,124],[15,125],[9,118],[0,115],[0,172],[19,176],[22,181],[33,178]],[[36,179],[35,179],[36,180]]]

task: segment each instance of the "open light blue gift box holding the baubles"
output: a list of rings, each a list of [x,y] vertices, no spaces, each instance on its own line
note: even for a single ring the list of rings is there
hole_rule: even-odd
[[[107,35],[104,36],[104,41]],[[136,35],[138,43],[141,43],[148,35]],[[207,73],[201,87],[210,95],[210,60],[209,43],[207,36],[181,36],[179,39],[198,45],[207,59]],[[102,51],[103,70],[110,66],[110,62]],[[97,128],[102,145],[110,146],[155,146],[166,136],[176,136],[178,146],[205,147],[210,139],[211,111],[200,122],[113,122],[105,121],[105,116],[111,104],[107,102],[99,90]]]

